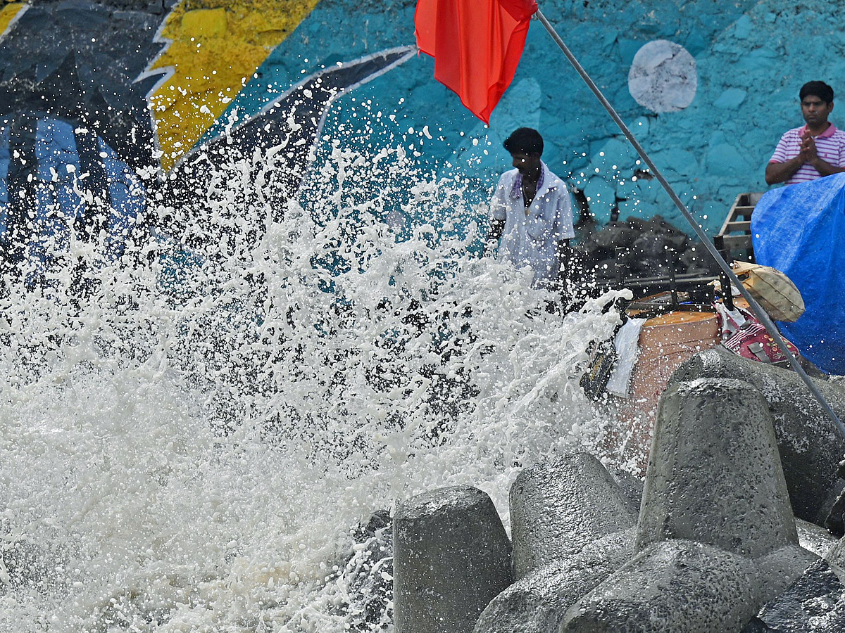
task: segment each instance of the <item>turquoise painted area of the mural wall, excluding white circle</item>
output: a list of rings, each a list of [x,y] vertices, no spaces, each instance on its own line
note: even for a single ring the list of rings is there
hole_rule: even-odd
[[[286,89],[303,68],[413,43],[413,4],[323,0],[232,106],[256,110],[272,96],[267,84]],[[766,189],[763,170],[777,138],[802,123],[801,84],[820,78],[845,90],[838,83],[845,65],[845,36],[839,27],[845,9],[834,3],[664,0],[620,7],[608,0],[547,0],[541,9],[711,233],[737,194]],[[650,111],[630,95],[631,62],[641,46],[654,40],[672,41],[695,57],[695,99],[683,110]],[[361,99],[373,100],[373,110],[395,111],[394,142],[413,127],[421,162],[440,171],[450,169],[447,162],[458,165],[479,196],[509,167],[501,141],[513,128],[526,125],[542,132],[544,159],[586,191],[598,219],[607,220],[614,200],[623,198],[623,219],[659,213],[684,225],[657,181],[631,180],[641,166],[635,153],[537,21],[490,127],[433,81],[433,61],[426,56],[338,100],[325,133],[342,136],[337,127],[353,120],[352,111],[363,114],[356,106]],[[425,125],[432,133],[437,130],[431,141],[419,134]],[[390,131],[390,126],[384,128],[384,133]]]

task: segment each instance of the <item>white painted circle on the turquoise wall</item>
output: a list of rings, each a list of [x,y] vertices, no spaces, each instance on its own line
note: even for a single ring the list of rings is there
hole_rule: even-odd
[[[628,73],[635,101],[653,112],[677,112],[695,99],[695,58],[679,44],[654,40],[636,52]]]

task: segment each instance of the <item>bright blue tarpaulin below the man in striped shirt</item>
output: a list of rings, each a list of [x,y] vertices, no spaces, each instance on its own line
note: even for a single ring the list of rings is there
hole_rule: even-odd
[[[821,370],[845,375],[845,173],[766,192],[751,234],[757,263],[804,298],[804,315],[778,327]]]

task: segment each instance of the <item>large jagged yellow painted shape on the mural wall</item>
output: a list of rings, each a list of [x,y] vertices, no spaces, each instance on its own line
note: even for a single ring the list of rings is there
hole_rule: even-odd
[[[270,52],[319,0],[186,0],[167,17],[170,41],[150,70],[172,76],[150,95],[161,166],[171,170]]]

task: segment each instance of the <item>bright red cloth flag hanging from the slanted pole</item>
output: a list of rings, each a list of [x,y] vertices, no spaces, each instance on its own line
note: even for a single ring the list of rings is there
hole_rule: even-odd
[[[434,78],[485,123],[510,85],[536,0],[418,0],[417,46]]]

